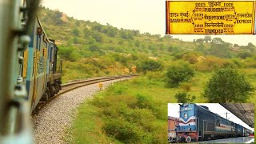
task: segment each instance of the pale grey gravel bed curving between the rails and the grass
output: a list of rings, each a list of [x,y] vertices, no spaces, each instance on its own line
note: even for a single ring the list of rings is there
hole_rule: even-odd
[[[103,89],[113,82],[126,79],[129,78],[102,82]],[[66,143],[62,140],[65,135],[64,130],[70,127],[75,115],[74,111],[79,104],[85,102],[86,98],[91,98],[98,90],[98,84],[83,86],[62,94],[42,107],[39,114],[32,118],[34,122],[34,143]]]

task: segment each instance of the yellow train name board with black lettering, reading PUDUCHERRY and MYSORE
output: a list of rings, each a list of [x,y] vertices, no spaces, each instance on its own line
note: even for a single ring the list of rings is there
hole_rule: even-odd
[[[254,34],[254,1],[166,1],[166,34]]]

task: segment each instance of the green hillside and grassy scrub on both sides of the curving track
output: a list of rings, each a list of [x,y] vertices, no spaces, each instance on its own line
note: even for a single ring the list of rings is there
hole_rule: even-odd
[[[128,74],[134,66],[142,74],[111,86],[82,104],[70,129],[74,139],[69,142],[166,143],[166,133],[159,131],[166,127],[167,103],[177,102],[174,96],[179,92],[195,96],[193,102],[208,102],[201,95],[213,70],[238,69],[256,87],[256,46],[252,43],[238,46],[210,36],[183,42],[170,35],[141,34],[138,30],[78,20],[44,7],[39,18],[60,49],[58,57],[64,60],[64,83]],[[168,86],[166,72],[171,66],[188,66],[194,70],[194,77]],[[255,94],[247,102],[256,102]],[[152,129],[158,134],[150,132]]]

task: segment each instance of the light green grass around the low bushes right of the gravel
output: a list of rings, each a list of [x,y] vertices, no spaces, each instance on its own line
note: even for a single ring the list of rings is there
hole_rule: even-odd
[[[241,70],[246,74],[246,78],[256,87],[256,82],[254,81],[256,70]],[[159,73],[148,73],[146,76],[140,76],[138,78],[131,79],[125,82],[118,82],[114,86],[110,86],[107,90],[104,90],[95,95],[95,97],[90,100],[90,102],[84,102],[78,108],[78,115],[75,118],[72,127],[70,128],[69,137],[73,140],[68,142],[74,143],[130,143],[130,142],[120,142],[113,136],[106,134],[103,130],[104,125],[111,118],[122,118],[118,115],[122,112],[124,120],[119,119],[118,122],[125,122],[126,119],[132,117],[133,114],[138,113],[142,116],[140,122],[141,126],[148,126],[145,123],[152,123],[158,127],[162,127],[163,134],[154,137],[165,139],[166,131],[166,115],[167,115],[167,103],[174,103],[177,100],[174,95],[178,92],[185,91],[185,86],[190,86],[188,94],[194,95],[196,99],[194,102],[207,102],[206,98],[202,98],[201,94],[203,92],[206,82],[210,78],[211,73],[199,73],[197,72],[189,82],[182,83],[181,86],[177,88],[170,88],[166,86],[164,78]],[[151,117],[150,108],[147,108],[144,113],[146,115],[140,114],[140,110],[144,109],[130,109],[129,106],[136,102],[138,95],[146,97],[146,102],[154,102],[154,105],[158,107],[160,112],[159,117]],[[254,94],[255,95],[255,94]],[[255,96],[250,98],[249,102],[255,102]],[[137,111],[134,113],[134,111]],[[105,115],[104,115],[105,114]],[[110,114],[106,117],[106,114]],[[131,114],[127,116],[127,114]],[[137,118],[137,117],[136,117]],[[150,118],[152,118],[150,120]],[[146,119],[144,121],[143,119]],[[148,120],[147,120],[148,119]],[[143,124],[144,123],[144,124]],[[138,133],[139,134],[143,134]],[[149,137],[150,138],[150,137]],[[151,141],[150,141],[151,142]],[[161,143],[161,142],[160,142]]]

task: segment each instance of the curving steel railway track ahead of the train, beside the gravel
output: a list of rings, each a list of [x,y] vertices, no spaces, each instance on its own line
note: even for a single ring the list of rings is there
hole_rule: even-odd
[[[77,89],[82,86],[88,86],[91,84],[95,84],[98,82],[106,82],[106,81],[111,81],[111,80],[116,80],[116,79],[122,79],[122,78],[133,78],[138,75],[121,75],[121,76],[110,76],[110,77],[98,77],[98,78],[89,78],[85,80],[80,80],[78,82],[70,82],[62,85],[62,90],[58,92],[58,94],[55,94],[54,97],[49,98],[47,102],[39,102],[38,103],[38,109],[34,110],[32,115],[34,116],[35,114],[38,114],[38,111],[42,109],[43,106],[46,106],[47,103],[51,102],[54,100],[54,98],[58,98],[60,95],[65,94],[66,92],[69,92],[70,90]]]

